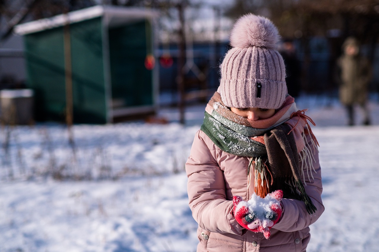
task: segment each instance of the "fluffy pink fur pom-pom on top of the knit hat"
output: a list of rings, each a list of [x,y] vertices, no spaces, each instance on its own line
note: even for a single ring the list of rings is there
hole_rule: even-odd
[[[276,26],[266,17],[247,14],[240,17],[230,33],[232,47],[266,47],[276,49],[280,35]]]

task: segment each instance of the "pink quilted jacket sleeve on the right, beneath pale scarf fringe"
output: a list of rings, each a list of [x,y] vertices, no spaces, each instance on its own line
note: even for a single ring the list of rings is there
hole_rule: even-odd
[[[294,199],[283,199],[283,213],[279,222],[273,227],[273,229],[277,229],[284,232],[292,232],[296,230],[304,229],[308,227],[312,223],[314,223],[324,212],[324,205],[321,200],[321,193],[323,191],[323,186],[321,182],[321,167],[318,159],[318,150],[313,145],[313,142],[310,140],[310,136],[307,136],[308,144],[310,146],[310,150],[312,151],[313,158],[310,157],[304,158],[304,161],[300,163],[302,166],[304,176],[302,176],[302,182],[306,183],[304,186],[306,193],[312,199],[313,204],[317,208],[316,213],[310,215],[306,208],[305,204],[302,201],[294,200]],[[312,162],[313,169],[310,169],[310,162]],[[314,179],[312,179],[311,176]],[[309,172],[309,176],[307,175],[307,171]]]

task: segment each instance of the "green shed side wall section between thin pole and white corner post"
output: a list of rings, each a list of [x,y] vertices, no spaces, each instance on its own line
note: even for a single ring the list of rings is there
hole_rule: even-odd
[[[101,18],[70,25],[75,123],[106,123]]]

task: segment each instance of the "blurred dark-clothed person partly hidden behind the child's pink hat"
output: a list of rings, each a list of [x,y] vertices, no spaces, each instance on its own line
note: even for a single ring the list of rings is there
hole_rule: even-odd
[[[296,98],[300,93],[301,65],[296,56],[296,47],[292,39],[283,40],[280,54],[282,54],[286,68],[285,82],[288,94]]]

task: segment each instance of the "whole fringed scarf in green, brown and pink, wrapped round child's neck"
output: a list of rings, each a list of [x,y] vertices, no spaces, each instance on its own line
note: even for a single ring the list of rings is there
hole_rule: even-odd
[[[312,151],[317,151],[316,147],[312,150],[308,145],[307,134],[311,135],[313,146],[318,143],[307,119],[313,121],[304,112],[296,108],[293,97],[287,96],[272,117],[252,121],[224,106],[220,94],[215,92],[205,108],[201,130],[223,151],[250,158],[247,176],[253,176],[250,168],[254,163],[254,191],[257,195],[264,198],[281,189],[284,198],[304,201],[308,213],[312,214],[316,207],[301,182],[301,175],[305,175],[299,169],[299,157],[301,162],[312,160]],[[315,171],[314,167],[309,169]]]

